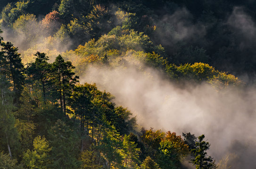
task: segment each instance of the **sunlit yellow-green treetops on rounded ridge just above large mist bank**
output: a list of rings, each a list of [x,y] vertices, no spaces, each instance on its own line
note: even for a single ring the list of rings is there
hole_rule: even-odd
[[[74,62],[76,67],[83,69],[84,64],[105,64],[105,60],[110,66],[122,65],[123,61],[134,64],[135,60],[139,60],[140,66],[145,64],[150,67],[164,68],[166,59],[160,56],[163,51],[161,46],[154,46],[148,36],[132,30],[121,36],[108,34],[101,36],[97,41],[91,39],[84,46],[80,45],[74,52],[69,51],[65,55],[68,60]],[[74,60],[74,54],[76,60]],[[134,57],[131,60],[132,56]]]

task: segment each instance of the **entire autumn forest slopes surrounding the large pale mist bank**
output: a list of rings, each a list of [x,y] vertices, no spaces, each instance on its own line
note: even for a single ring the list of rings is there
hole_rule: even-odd
[[[0,168],[248,168],[240,151],[217,165],[205,135],[145,129],[79,80],[91,67],[132,68],[178,88],[253,85],[255,2],[2,0],[0,10]]]

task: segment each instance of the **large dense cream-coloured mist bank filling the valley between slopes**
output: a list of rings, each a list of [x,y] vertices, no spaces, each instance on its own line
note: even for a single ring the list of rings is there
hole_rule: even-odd
[[[136,115],[140,126],[163,131],[205,134],[209,154],[216,160],[232,150],[234,142],[256,140],[256,89],[226,88],[217,91],[208,83],[179,87],[156,69],[90,67],[81,83],[96,83],[115,96],[117,105]],[[231,148],[232,147],[232,148]],[[250,149],[252,151],[252,149]],[[236,154],[246,154],[246,150]],[[256,149],[253,149],[256,153]],[[239,154],[240,155],[240,154]],[[249,165],[252,166],[252,165]]]

